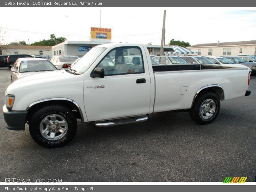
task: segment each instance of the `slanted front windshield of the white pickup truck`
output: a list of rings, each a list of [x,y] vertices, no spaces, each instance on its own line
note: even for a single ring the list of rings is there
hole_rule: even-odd
[[[105,47],[93,47],[71,69],[77,73],[84,73],[106,49]]]

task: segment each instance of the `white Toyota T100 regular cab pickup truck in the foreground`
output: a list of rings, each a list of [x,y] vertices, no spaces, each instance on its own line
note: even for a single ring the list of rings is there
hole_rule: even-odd
[[[9,85],[3,112],[8,129],[24,130],[28,123],[36,143],[52,148],[73,139],[77,119],[107,127],[189,109],[195,122],[209,124],[219,114],[220,100],[250,95],[249,82],[248,68],[152,66],[145,45],[103,44],[71,68]]]

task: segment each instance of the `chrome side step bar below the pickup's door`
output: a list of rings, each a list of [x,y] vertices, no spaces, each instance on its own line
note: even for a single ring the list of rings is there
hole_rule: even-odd
[[[114,125],[123,125],[123,124],[130,124],[130,123],[139,123],[139,122],[144,122],[148,120],[148,115],[147,116],[140,116],[140,117],[130,117],[122,120],[112,120],[109,122],[98,122],[95,124],[96,127],[110,127]]]

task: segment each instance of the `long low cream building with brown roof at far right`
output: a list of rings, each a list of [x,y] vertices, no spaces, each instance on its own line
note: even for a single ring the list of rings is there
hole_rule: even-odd
[[[256,55],[256,40],[196,44],[186,48],[193,52],[197,52],[197,54],[201,56],[237,56],[239,54]]]

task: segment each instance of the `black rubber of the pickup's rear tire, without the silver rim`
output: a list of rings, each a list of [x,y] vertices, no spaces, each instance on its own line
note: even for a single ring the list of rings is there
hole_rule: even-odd
[[[212,100],[215,103],[215,111],[212,113],[212,116],[207,118],[206,116],[201,115],[200,108],[201,105],[206,102],[206,100]],[[211,105],[212,106],[212,105]],[[220,112],[220,99],[213,92],[203,91],[197,95],[196,100],[192,108],[189,110],[189,116],[198,124],[210,124],[212,123]]]

